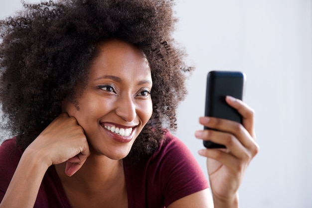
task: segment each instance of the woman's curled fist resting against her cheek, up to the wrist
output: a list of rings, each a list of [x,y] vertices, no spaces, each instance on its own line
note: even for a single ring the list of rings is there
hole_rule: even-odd
[[[74,117],[62,113],[27,147],[25,152],[39,154],[48,166],[66,163],[65,174],[75,174],[90,155],[83,128]]]

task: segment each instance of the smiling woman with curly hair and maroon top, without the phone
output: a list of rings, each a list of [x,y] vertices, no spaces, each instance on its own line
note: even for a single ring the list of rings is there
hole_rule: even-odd
[[[68,0],[25,5],[1,21],[0,100],[16,137],[0,146],[2,208],[238,207],[251,159],[253,110],[228,97],[243,125],[196,137],[208,183],[174,130],[192,68],[171,37],[172,1]]]

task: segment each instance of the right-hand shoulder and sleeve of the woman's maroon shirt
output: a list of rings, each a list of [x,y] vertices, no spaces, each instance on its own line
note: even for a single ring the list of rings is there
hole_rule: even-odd
[[[132,189],[128,190],[131,192],[128,200],[136,205],[133,207],[167,207],[208,188],[207,179],[190,150],[170,133],[153,155],[143,158],[138,165],[126,165],[125,174],[127,186]]]

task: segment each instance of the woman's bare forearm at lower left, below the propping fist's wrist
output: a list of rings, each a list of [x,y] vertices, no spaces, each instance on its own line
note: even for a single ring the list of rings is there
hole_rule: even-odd
[[[40,184],[48,168],[48,165],[42,163],[41,159],[34,157],[34,154],[29,151],[24,152],[0,208],[33,208]]]

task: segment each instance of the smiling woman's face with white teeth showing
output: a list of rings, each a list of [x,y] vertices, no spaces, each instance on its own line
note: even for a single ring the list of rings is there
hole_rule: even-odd
[[[152,76],[143,53],[110,40],[99,46],[88,84],[77,94],[79,109],[67,99],[62,108],[85,131],[91,152],[122,159],[152,116]]]

